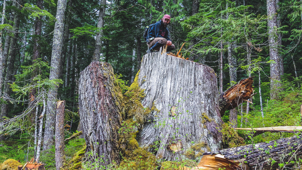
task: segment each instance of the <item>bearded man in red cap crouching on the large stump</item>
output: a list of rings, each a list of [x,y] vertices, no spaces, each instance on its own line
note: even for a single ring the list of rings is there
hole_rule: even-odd
[[[175,49],[175,45],[172,44],[172,41],[169,38],[169,30],[167,25],[170,23],[170,15],[164,15],[164,17],[157,21],[148,31],[147,44],[148,50],[147,53],[152,53],[153,51],[158,51],[160,47],[168,44],[167,52]]]

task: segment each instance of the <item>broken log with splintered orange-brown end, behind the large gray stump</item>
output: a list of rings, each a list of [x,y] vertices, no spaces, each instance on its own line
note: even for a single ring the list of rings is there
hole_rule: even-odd
[[[226,110],[236,108],[244,100],[248,100],[256,94],[252,87],[253,82],[253,77],[242,79],[219,95],[219,109],[221,117],[224,115]]]

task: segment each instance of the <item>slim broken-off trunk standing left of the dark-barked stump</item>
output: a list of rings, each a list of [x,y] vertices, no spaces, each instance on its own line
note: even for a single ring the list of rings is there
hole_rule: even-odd
[[[58,101],[56,105],[56,170],[60,170],[65,164],[64,144],[64,111],[65,100]]]

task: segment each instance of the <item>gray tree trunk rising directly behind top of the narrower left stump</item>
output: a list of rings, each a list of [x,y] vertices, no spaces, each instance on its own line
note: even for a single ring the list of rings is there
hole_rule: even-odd
[[[101,1],[101,7],[98,14],[98,28],[104,27],[104,17],[105,17],[105,10],[106,10],[106,0],[100,0]],[[100,60],[100,54],[102,49],[102,40],[101,37],[103,37],[103,30],[101,30],[97,35],[95,39],[95,51],[93,53],[92,61],[99,61]]]

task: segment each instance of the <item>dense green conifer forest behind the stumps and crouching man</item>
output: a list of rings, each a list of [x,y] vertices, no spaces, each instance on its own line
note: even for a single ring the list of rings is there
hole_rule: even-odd
[[[76,132],[79,75],[92,61],[110,63],[127,91],[147,50],[143,31],[165,14],[171,16],[173,53],[185,43],[182,55],[212,67],[221,93],[254,77],[257,94],[227,112],[225,123],[300,124],[300,0],[4,0],[0,5],[0,138],[3,152],[18,152],[21,160],[42,145],[51,148],[52,101],[66,100],[66,137]],[[5,143],[17,139],[24,139],[18,148]]]

